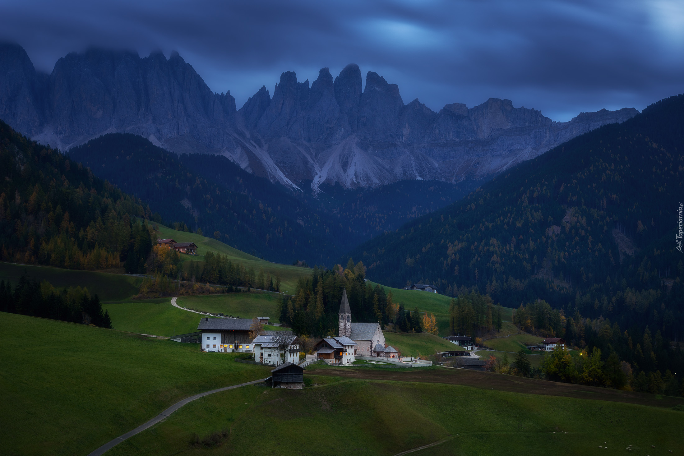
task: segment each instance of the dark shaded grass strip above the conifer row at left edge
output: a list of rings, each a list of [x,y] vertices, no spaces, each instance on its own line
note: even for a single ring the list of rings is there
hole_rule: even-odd
[[[131,297],[137,294],[137,289],[142,283],[142,278],[124,276],[123,274],[111,274],[93,271],[75,271],[73,269],[60,269],[58,267],[16,265],[14,263],[0,262],[0,279],[16,283],[24,272],[29,278],[36,278],[39,282],[47,280],[55,288],[64,286],[86,287],[90,293],[96,294],[102,301],[114,301]]]

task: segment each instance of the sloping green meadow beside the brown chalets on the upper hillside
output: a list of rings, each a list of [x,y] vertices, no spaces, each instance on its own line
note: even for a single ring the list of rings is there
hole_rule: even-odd
[[[184,261],[195,260],[204,262],[205,254],[209,251],[227,255],[233,262],[242,263],[245,267],[254,267],[254,271],[259,273],[259,268],[263,267],[265,273],[271,273],[275,277],[280,273],[280,290],[294,293],[295,284],[301,276],[310,276],[311,269],[292,265],[281,265],[271,263],[256,256],[246,254],[235,247],[224,244],[211,237],[201,236],[192,232],[176,231],[163,225],[159,225],[159,236],[162,238],[172,238],[176,242],[194,242],[197,245],[197,256],[181,254]]]

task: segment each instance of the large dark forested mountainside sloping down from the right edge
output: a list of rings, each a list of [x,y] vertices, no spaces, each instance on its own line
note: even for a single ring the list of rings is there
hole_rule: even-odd
[[[600,338],[633,361],[648,346],[642,366],[664,371],[668,341],[684,335],[683,139],[680,95],[519,165],[351,256],[393,286],[474,288],[515,308],[543,299],[564,310],[560,333],[570,343]],[[549,315],[537,330],[553,332]]]

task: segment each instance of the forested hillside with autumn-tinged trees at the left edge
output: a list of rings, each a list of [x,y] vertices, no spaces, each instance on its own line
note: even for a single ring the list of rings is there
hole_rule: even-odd
[[[0,122],[0,260],[144,272],[149,206]]]

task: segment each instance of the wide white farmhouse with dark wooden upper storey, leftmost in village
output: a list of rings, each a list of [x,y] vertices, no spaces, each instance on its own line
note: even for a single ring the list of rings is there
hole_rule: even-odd
[[[200,347],[202,351],[220,351],[232,353],[234,351],[252,351],[250,319],[210,319],[200,320],[197,330],[202,332]]]

